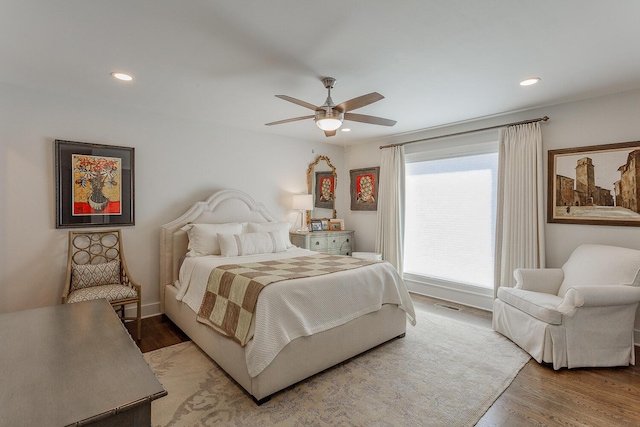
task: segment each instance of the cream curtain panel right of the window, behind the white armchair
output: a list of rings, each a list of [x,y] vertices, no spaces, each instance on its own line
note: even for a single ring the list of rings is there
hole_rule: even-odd
[[[495,292],[513,287],[516,268],[544,268],[544,197],[540,123],[500,131]]]

